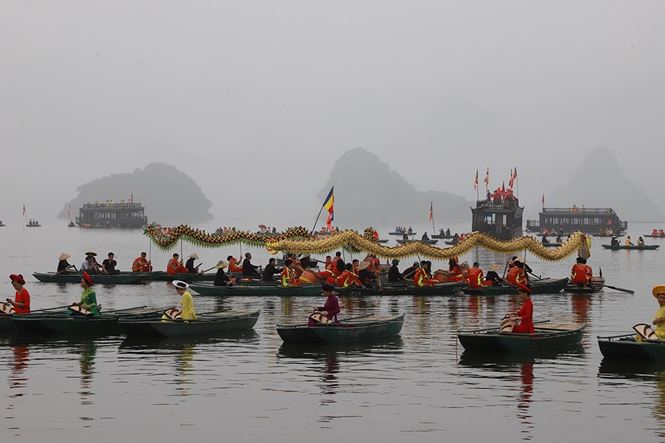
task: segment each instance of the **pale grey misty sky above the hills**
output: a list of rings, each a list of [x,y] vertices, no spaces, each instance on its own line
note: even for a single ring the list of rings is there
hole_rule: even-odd
[[[469,199],[516,165],[538,206],[597,146],[665,185],[660,0],[3,0],[0,57],[3,220],[152,161],[218,216],[315,212],[359,146]]]

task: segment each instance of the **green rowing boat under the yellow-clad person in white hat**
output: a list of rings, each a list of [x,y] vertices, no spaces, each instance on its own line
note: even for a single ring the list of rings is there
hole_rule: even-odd
[[[124,319],[118,327],[127,335],[159,335],[177,337],[196,334],[215,334],[252,329],[259,318],[255,312],[211,312],[200,314],[196,320]]]

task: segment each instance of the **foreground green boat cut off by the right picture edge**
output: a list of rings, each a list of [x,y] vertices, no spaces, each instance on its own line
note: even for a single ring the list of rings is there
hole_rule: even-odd
[[[636,341],[635,334],[598,337],[600,352],[608,360],[665,362],[665,341]]]

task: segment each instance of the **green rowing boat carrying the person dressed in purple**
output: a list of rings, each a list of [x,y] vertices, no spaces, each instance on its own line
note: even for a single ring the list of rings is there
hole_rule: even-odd
[[[309,327],[307,324],[277,325],[277,333],[285,342],[292,343],[353,343],[399,335],[404,314],[371,316],[342,320],[339,323]]]

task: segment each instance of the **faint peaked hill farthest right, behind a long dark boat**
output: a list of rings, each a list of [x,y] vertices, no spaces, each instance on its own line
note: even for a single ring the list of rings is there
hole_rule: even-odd
[[[663,212],[626,177],[614,153],[604,147],[591,150],[572,179],[551,196],[546,207],[612,208],[622,220],[664,220]]]

